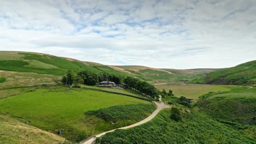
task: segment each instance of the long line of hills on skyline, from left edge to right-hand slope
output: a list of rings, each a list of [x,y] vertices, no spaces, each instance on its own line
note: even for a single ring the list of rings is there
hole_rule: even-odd
[[[0,70],[55,76],[65,75],[67,70],[73,70],[75,73],[88,70],[95,74],[105,72],[124,77],[135,76],[151,83],[161,83],[193,80],[217,69],[177,70],[155,69],[136,65],[113,66],[83,62],[73,58],[57,57],[45,53],[0,51]]]

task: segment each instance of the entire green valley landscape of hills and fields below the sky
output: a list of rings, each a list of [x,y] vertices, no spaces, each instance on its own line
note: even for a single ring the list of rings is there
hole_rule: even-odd
[[[203,77],[234,77],[225,71],[237,68],[113,66],[31,52],[0,56],[0,143],[79,143],[94,135],[96,143],[256,141],[255,61],[241,64],[248,81],[206,85]],[[106,80],[117,86],[98,87]]]

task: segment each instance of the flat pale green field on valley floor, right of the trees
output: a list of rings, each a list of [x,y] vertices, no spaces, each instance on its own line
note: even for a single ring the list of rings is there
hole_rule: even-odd
[[[173,91],[176,97],[184,96],[190,99],[198,99],[201,95],[208,92],[230,91],[239,86],[218,86],[218,85],[157,85],[160,91],[169,89]]]

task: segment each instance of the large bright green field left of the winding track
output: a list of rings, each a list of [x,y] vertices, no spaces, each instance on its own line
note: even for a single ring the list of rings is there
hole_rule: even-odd
[[[152,105],[149,101],[125,95],[81,88],[51,87],[34,88],[13,97],[0,99],[0,112],[13,117],[23,117],[20,121],[31,121],[29,124],[51,133],[64,129],[63,137],[80,141],[118,125],[96,116],[85,115],[86,111],[129,104]]]

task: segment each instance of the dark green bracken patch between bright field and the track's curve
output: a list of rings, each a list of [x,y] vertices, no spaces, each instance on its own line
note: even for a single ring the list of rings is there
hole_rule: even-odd
[[[155,110],[153,104],[117,105],[100,110],[87,111],[87,115],[95,115],[109,123],[118,123],[119,127],[133,124],[148,117]],[[123,124],[124,122],[128,122]],[[121,123],[121,125],[120,125]]]

